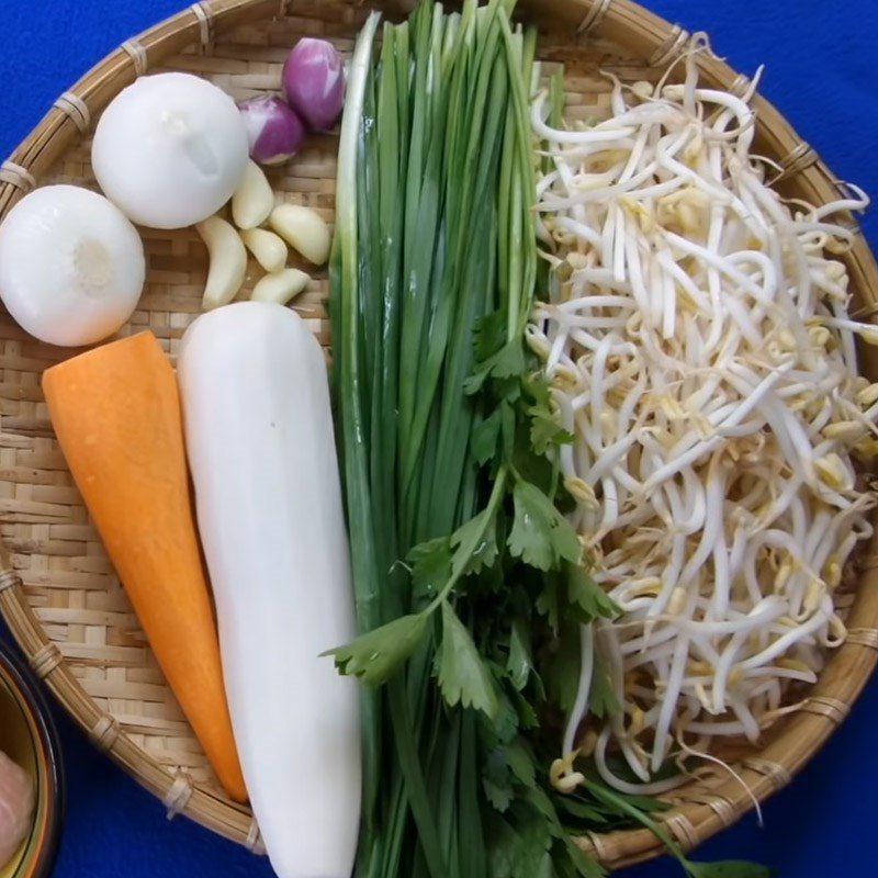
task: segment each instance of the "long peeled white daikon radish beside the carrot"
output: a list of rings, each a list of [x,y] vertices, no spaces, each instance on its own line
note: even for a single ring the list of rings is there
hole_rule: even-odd
[[[178,361],[198,519],[250,802],[280,878],[349,878],[360,818],[354,633],[326,365],[294,312],[199,317]]]

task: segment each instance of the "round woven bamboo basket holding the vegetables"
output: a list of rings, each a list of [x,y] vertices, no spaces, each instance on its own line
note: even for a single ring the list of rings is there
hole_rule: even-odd
[[[207,77],[236,99],[279,83],[289,47],[322,35],[342,52],[370,5],[398,14],[392,2],[357,0],[210,0],[126,42],[58,98],[0,170],[0,218],[34,185],[93,187],[89,165],[95,117],[125,86],[146,72],[177,69]],[[532,0],[521,14],[541,25],[539,54],[566,70],[569,108],[606,106],[599,69],[623,80],[655,80],[687,46],[689,34],[629,0]],[[747,79],[705,54],[705,79],[741,92]],[[819,157],[765,100],[756,97],[758,148],[784,169],[778,185],[813,203],[837,196],[838,183]],[[289,165],[272,171],[280,196],[306,203],[331,221],[337,138],[312,136]],[[199,313],[206,254],[192,230],[145,229],[148,275],[138,311],[123,334],[151,329],[173,356]],[[846,257],[856,306],[871,314],[878,268],[862,236]],[[258,278],[254,267],[248,283]],[[327,280],[318,275],[296,302],[325,346]],[[246,295],[246,293],[245,293]],[[40,390],[42,371],[69,350],[42,345],[0,313],[0,610],[35,672],[100,747],[159,797],[211,830],[261,851],[248,809],[234,804],[206,759],[159,672],[137,620],[89,522],[54,439]],[[868,356],[868,352],[867,352]],[[873,380],[878,361],[865,363]],[[734,753],[734,767],[759,798],[790,781],[847,716],[878,658],[878,543],[847,571],[847,642],[832,657],[802,710],[766,733],[759,748]],[[676,790],[663,815],[690,848],[751,807],[728,775],[708,773]],[[660,853],[643,830],[595,834],[583,844],[619,867]]]

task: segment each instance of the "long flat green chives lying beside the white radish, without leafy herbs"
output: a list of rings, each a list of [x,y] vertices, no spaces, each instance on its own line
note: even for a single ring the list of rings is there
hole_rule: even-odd
[[[524,85],[533,42],[513,32],[513,7],[464,0],[446,14],[423,2],[384,25],[380,53],[372,15],[354,50],[330,318],[362,632],[437,606],[410,593],[401,560],[471,519],[487,494],[504,496],[505,473],[486,491],[473,459],[483,415],[464,382],[480,322],[502,309],[511,339],[533,295]],[[430,633],[365,694],[360,878],[486,875],[477,725],[442,701],[432,654]]]

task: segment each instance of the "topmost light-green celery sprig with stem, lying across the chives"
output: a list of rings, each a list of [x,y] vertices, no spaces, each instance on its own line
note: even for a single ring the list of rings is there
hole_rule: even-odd
[[[429,623],[438,616],[436,671],[442,695],[451,707],[462,703],[489,717],[497,706],[492,672],[458,616],[458,590],[477,592],[494,574],[508,574],[518,565],[556,574],[532,595],[534,607],[553,627],[564,612],[583,621],[616,614],[612,601],[585,572],[576,531],[552,496],[551,455],[570,438],[545,426],[556,426],[556,416],[549,408],[544,380],[528,371],[520,338],[496,350],[485,340],[492,333],[488,327],[502,318],[498,312],[482,323],[476,349],[483,359],[473,375],[477,380],[469,387],[486,394],[494,404],[473,436],[476,459],[494,462],[493,487],[484,508],[450,536],[420,543],[408,553],[413,589],[430,597],[423,609],[329,653],[341,673],[381,685],[425,643]],[[510,353],[513,348],[517,353]],[[511,372],[513,363],[517,374]],[[558,576],[565,581],[561,594]]]

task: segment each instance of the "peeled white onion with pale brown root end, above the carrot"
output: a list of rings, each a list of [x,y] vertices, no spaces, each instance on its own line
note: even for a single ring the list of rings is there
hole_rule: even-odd
[[[37,189],[0,225],[0,297],[23,329],[50,345],[91,345],[116,333],[145,275],[137,229],[88,189]]]

